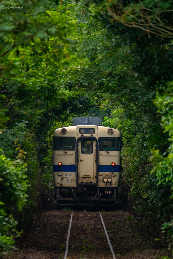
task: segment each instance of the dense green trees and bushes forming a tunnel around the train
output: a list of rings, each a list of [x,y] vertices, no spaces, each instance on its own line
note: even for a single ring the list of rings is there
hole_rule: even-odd
[[[171,249],[173,1],[0,9],[1,251],[53,207],[53,131],[86,115],[122,132],[121,203]]]

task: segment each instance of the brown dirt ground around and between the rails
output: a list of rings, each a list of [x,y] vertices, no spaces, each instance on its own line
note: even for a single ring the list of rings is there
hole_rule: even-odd
[[[63,259],[70,217],[71,211],[67,210],[42,213],[35,222],[35,231],[17,243],[19,250],[2,259]],[[117,259],[168,259],[170,256],[170,251],[159,250],[155,241],[139,232],[128,212],[102,211],[102,217]],[[74,211],[67,258],[113,258],[98,211]]]

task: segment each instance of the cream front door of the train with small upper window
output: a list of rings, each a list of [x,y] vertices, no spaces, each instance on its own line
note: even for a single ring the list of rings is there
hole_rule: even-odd
[[[96,140],[79,140],[78,183],[96,183]]]

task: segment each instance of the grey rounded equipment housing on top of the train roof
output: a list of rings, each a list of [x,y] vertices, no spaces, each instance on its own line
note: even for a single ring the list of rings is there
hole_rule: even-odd
[[[76,117],[73,120],[73,126],[77,125],[99,125],[101,126],[101,119],[98,117]]]

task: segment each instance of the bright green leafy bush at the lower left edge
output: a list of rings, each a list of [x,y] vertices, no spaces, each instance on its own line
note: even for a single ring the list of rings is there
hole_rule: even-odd
[[[13,161],[1,154],[0,164],[0,251],[5,251],[13,247],[14,238],[21,234],[16,229],[18,222],[10,212],[15,206],[22,210],[29,184],[26,180],[26,164],[20,159]]]

